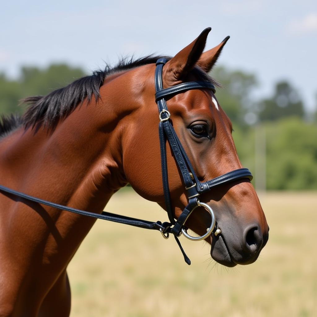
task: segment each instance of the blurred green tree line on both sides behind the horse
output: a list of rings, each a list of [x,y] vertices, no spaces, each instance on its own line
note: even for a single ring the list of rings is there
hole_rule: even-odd
[[[23,113],[25,107],[19,106],[22,98],[48,94],[84,75],[81,68],[67,64],[22,67],[15,80],[0,73],[0,114]],[[317,112],[305,112],[299,92],[288,81],[280,81],[271,96],[259,100],[254,97],[259,85],[255,74],[220,66],[212,76],[223,86],[216,96],[233,123],[233,138],[243,166],[257,177],[259,158],[255,149],[259,140],[255,131],[261,126],[266,189],[317,189]]]

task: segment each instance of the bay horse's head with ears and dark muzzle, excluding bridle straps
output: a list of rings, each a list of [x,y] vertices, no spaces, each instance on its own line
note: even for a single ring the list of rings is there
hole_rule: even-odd
[[[166,62],[162,79],[164,88],[188,81],[208,80],[223,46],[229,39],[203,53],[207,35],[205,29],[191,44]],[[148,200],[166,210],[162,187],[159,145],[159,116],[154,95],[153,64],[129,72],[129,86],[134,96],[133,115],[126,122],[122,138],[123,169],[127,181]],[[209,79],[212,82],[212,79]],[[213,91],[191,89],[166,98],[171,124],[200,182],[240,169],[230,119],[220,107]],[[127,128],[128,126],[128,128]],[[174,152],[167,146],[168,183],[171,209],[177,219],[188,204],[188,194],[180,177]],[[200,201],[214,210],[218,232],[205,239],[211,245],[214,260],[226,265],[254,262],[268,240],[268,224],[256,192],[248,178],[217,186],[200,194]],[[203,235],[210,226],[210,215],[197,208],[186,220],[186,226]]]

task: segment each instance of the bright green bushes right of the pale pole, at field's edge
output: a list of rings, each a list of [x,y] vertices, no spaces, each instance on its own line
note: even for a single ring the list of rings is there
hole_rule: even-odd
[[[317,126],[299,118],[267,124],[268,189],[317,189]]]

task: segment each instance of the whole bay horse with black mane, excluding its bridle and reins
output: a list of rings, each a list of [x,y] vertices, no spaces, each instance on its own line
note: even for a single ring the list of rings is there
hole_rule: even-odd
[[[209,31],[172,58],[121,61],[47,96],[27,98],[30,106],[23,117],[3,118],[0,126],[0,184],[95,214],[127,183],[165,210],[169,202],[175,219],[188,199],[199,205],[197,197],[188,197],[180,177],[184,171],[175,144],[166,145],[168,175],[162,171],[157,126],[169,122],[191,165],[192,173],[185,173],[197,184],[241,170],[232,125],[210,89],[216,83],[207,75],[229,37],[203,53]],[[161,98],[168,103],[160,116],[154,98],[158,59],[165,64],[160,68]],[[209,88],[189,88],[188,82],[209,82]],[[175,94],[173,87],[182,84],[188,89]],[[173,93],[167,95],[166,88]],[[170,200],[164,195],[166,185],[162,187],[164,175]],[[201,191],[199,199],[217,219],[217,230],[212,228],[204,239],[212,258],[228,267],[254,262],[268,240],[268,224],[250,177]],[[69,316],[66,268],[95,218],[2,190],[0,202],[0,316]],[[186,227],[204,236],[210,214],[197,208],[186,216]]]

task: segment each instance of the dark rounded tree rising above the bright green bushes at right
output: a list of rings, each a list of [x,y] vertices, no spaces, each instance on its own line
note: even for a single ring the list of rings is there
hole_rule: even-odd
[[[259,119],[261,121],[274,121],[289,116],[303,118],[303,102],[290,83],[280,81],[275,85],[273,96],[259,103]]]

